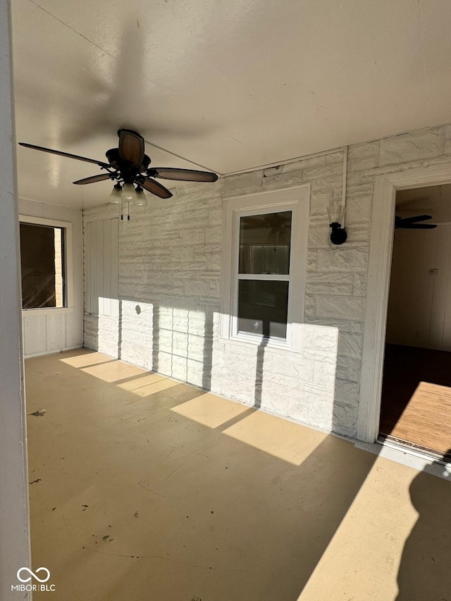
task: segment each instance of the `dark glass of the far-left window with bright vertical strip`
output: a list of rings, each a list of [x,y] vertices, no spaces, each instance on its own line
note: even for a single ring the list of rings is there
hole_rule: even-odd
[[[64,306],[63,231],[20,223],[23,309]]]

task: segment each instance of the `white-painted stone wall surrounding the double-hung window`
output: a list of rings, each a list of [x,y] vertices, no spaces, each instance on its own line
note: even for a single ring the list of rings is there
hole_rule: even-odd
[[[342,151],[187,184],[152,197],[119,231],[119,318],[85,313],[85,345],[316,428],[354,437],[376,175],[451,162],[451,126],[347,149],[342,247],[328,240],[340,199]],[[247,347],[219,336],[223,207],[228,197],[311,185],[302,352]],[[84,211],[95,221],[115,206]],[[86,253],[85,253],[86,254]],[[85,261],[87,257],[85,256]]]

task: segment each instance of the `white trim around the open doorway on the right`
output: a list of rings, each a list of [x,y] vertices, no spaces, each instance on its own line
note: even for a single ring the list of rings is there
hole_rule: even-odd
[[[390,291],[397,190],[451,183],[447,163],[377,175],[371,213],[366,318],[362,353],[357,439],[374,442],[381,418],[381,392],[388,293]]]

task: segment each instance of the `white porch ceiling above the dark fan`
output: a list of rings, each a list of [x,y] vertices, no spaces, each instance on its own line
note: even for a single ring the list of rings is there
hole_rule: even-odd
[[[12,9],[20,142],[104,160],[128,127],[154,166],[226,174],[451,122],[449,0],[13,0]],[[110,182],[71,183],[95,173],[18,149],[20,197],[103,204]]]

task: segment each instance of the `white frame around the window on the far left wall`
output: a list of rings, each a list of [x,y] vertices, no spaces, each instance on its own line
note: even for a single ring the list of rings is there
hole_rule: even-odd
[[[66,286],[66,306],[46,306],[38,309],[22,309],[22,314],[56,315],[73,312],[73,246],[72,246],[72,223],[70,221],[56,221],[56,219],[44,219],[29,215],[19,215],[19,223],[29,225],[48,225],[51,228],[62,228],[64,231],[64,275]]]

